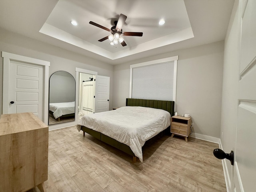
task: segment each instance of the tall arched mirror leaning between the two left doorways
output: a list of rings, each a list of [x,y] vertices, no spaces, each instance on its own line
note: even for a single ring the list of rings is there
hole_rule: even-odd
[[[49,125],[75,120],[76,83],[66,71],[57,71],[50,76]]]

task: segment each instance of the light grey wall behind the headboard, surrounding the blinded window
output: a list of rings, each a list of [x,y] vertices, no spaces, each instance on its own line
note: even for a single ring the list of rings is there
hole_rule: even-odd
[[[177,50],[114,66],[113,107],[125,106],[129,98],[130,64],[179,56],[176,110],[190,114],[192,136],[220,138],[224,41]]]

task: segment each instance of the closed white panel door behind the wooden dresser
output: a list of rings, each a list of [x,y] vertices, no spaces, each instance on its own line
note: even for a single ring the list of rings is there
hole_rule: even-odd
[[[32,112],[43,117],[43,66],[10,61],[8,113]]]

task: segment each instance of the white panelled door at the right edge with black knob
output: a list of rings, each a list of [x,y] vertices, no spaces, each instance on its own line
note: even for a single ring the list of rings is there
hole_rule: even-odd
[[[232,187],[236,192],[252,192],[256,190],[256,1],[243,6]]]

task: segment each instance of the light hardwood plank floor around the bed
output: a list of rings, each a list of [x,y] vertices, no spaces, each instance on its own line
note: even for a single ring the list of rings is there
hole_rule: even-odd
[[[143,163],[75,126],[49,132],[46,192],[224,192],[218,144],[164,136],[147,145]],[[34,188],[29,192],[38,192]]]

